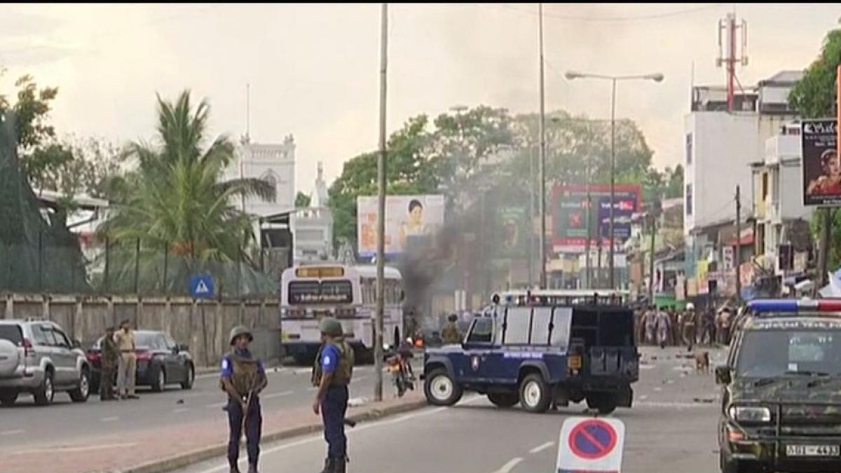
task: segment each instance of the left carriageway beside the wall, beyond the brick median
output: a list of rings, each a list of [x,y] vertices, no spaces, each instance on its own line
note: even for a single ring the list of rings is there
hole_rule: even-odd
[[[309,406],[314,395],[309,384],[309,368],[268,369],[269,384],[261,396],[264,410]],[[383,393],[391,396],[394,388],[383,376]],[[353,396],[373,393],[373,366],[354,369]],[[137,401],[99,401],[91,396],[83,404],[75,404],[65,393],[56,393],[50,407],[37,407],[32,396],[21,396],[12,407],[0,407],[0,454],[3,451],[48,449],[66,444],[84,444],[88,437],[101,437],[132,430],[155,428],[177,423],[188,424],[208,416],[225,417],[222,407],[225,394],[219,389],[219,375],[199,375],[193,390],[182,391],[171,385],[167,391],[155,393],[138,388]]]

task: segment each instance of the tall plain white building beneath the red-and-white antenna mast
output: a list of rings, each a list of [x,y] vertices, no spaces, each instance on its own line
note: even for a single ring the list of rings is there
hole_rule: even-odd
[[[733,222],[736,186],[741,188],[743,221],[753,209],[751,164],[764,159],[765,142],[780,126],[796,118],[788,93],[802,72],[785,71],[737,93],[727,109],[723,87],[692,89],[685,117],[684,235],[686,274],[696,261],[716,254],[719,242],[704,236],[706,228]]]

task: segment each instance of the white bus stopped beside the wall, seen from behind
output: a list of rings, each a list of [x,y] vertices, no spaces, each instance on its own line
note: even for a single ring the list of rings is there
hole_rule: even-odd
[[[383,343],[398,344],[403,333],[403,280],[395,268],[385,268]],[[320,345],[319,322],[334,316],[346,340],[361,355],[372,358],[373,315],[377,302],[377,268],[344,264],[293,266],[280,279],[281,343],[297,363],[315,359]],[[387,349],[388,349],[387,348]]]

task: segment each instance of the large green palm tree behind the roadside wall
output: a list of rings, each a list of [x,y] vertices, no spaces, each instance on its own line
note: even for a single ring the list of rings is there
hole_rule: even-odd
[[[105,235],[116,247],[134,249],[140,242],[144,252],[155,255],[165,248],[167,256],[182,258],[190,273],[208,263],[247,259],[244,248],[254,235],[250,218],[236,209],[235,198],[269,199],[275,195],[273,185],[256,178],[221,180],[234,160],[234,146],[219,136],[203,148],[209,119],[206,101],[193,110],[188,91],[174,103],[160,96],[157,101],[157,142],[128,146],[137,170],[126,178],[125,199],[114,206],[103,227]]]

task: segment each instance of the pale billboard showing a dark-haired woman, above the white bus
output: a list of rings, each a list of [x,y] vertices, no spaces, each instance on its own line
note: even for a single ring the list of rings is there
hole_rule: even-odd
[[[444,226],[443,195],[388,195],[385,198],[385,254],[399,255],[412,242],[426,242]],[[377,256],[377,196],[357,197],[359,256]]]

